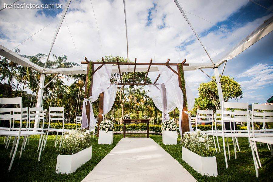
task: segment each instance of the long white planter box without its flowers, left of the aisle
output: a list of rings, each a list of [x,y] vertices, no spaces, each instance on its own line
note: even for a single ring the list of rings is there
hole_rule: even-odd
[[[92,146],[73,155],[58,155],[56,173],[70,174],[92,158]]]

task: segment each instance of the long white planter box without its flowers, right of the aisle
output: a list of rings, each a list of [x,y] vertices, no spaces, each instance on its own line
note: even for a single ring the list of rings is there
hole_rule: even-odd
[[[216,157],[201,157],[200,155],[182,147],[182,159],[198,173],[206,176],[217,176]]]

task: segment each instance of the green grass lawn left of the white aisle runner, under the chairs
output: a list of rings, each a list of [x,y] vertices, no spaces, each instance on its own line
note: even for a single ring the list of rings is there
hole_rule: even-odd
[[[103,159],[120,141],[122,135],[114,135],[112,145],[98,145],[98,138],[94,137],[92,159],[83,164],[74,173],[56,174],[57,152],[54,148],[56,135],[49,135],[45,150],[41,154],[38,162],[37,152],[39,137],[32,136],[29,146],[25,147],[21,159],[19,152],[21,143],[17,150],[17,155],[12,165],[12,170],[8,173],[10,163],[9,153],[11,146],[5,149],[4,137],[0,137],[0,179],[1,181],[81,181],[83,178]]]

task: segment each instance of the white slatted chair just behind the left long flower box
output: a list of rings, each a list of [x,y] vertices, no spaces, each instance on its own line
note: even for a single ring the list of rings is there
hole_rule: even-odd
[[[47,136],[49,132],[56,132],[56,139],[55,139],[55,145],[54,147],[56,147],[56,143],[57,143],[57,139],[58,139],[58,133],[62,132],[62,137],[63,137],[63,133],[65,132],[69,132],[70,130],[64,129],[64,121],[65,121],[65,117],[64,117],[64,108],[63,107],[49,107],[49,122],[48,122],[48,129],[47,129],[47,134],[46,134],[46,138],[45,138],[45,143],[44,143],[44,149],[45,149],[45,144],[47,141]],[[50,128],[50,122],[52,121],[62,121],[62,129],[57,129],[57,128]],[[61,137],[61,142],[60,142],[60,146],[62,145],[62,137]]]

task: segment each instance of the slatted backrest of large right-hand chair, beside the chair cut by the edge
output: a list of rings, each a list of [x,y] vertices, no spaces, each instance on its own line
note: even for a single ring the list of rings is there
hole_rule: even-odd
[[[238,110],[243,109],[243,110]],[[224,122],[245,122],[248,125],[249,120],[248,103],[222,102],[221,120]],[[233,117],[232,117],[233,116]],[[222,127],[223,123],[222,122]],[[233,124],[234,124],[233,123]],[[235,129],[234,129],[235,130]]]

